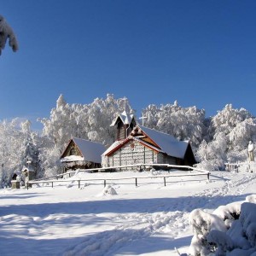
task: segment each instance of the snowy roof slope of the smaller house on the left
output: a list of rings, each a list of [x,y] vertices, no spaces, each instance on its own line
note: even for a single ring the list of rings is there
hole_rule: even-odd
[[[94,143],[77,137],[73,137],[73,142],[78,146],[84,160],[94,163],[102,162],[101,155],[106,149],[102,143]]]

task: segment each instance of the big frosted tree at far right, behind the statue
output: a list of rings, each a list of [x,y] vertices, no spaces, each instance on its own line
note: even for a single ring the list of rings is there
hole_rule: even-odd
[[[256,141],[256,119],[246,109],[227,104],[212,117],[207,133],[208,141],[203,141],[196,152],[200,166],[223,169],[226,161],[247,160],[247,144]]]

